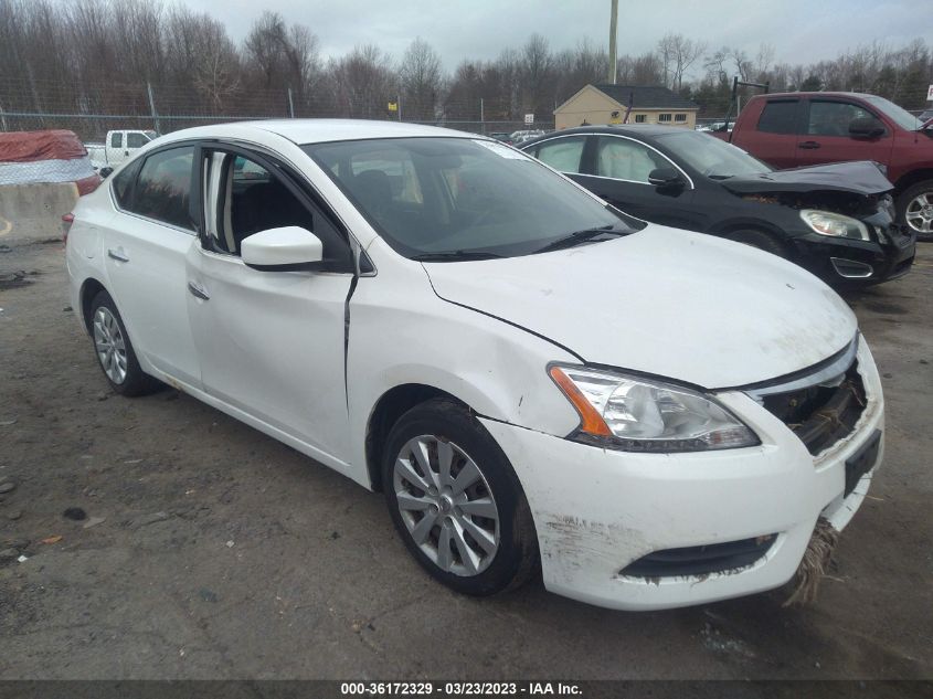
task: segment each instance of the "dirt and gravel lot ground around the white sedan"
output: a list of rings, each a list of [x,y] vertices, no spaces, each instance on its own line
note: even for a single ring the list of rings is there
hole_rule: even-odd
[[[817,603],[632,614],[458,596],[380,495],[173,390],[112,394],[61,244],[0,242],[2,679],[933,678],[933,245],[849,298],[888,451]]]

